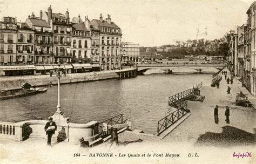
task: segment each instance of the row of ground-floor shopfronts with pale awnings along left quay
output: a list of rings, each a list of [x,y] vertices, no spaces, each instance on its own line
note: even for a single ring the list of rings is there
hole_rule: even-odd
[[[56,69],[58,65],[0,65],[0,76],[55,74]],[[100,71],[100,65],[98,63],[62,64],[60,69],[65,73],[84,73]]]

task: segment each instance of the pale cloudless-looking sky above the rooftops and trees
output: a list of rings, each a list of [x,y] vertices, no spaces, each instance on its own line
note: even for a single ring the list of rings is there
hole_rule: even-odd
[[[0,16],[17,17],[25,22],[32,11],[52,6],[53,13],[64,13],[69,9],[70,19],[78,14],[84,20],[99,19],[103,13],[111,15],[111,21],[122,29],[122,41],[139,43],[142,46],[159,46],[175,43],[175,40],[198,38],[215,39],[246,22],[246,11],[252,1],[161,1],[161,0],[0,0]],[[207,36],[204,33],[207,27]]]

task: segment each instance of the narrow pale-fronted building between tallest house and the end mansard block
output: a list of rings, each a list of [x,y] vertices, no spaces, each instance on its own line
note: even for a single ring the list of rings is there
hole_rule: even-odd
[[[90,63],[91,58],[91,35],[90,20],[85,18],[85,22],[72,25],[72,63]],[[74,19],[74,18],[73,18]]]

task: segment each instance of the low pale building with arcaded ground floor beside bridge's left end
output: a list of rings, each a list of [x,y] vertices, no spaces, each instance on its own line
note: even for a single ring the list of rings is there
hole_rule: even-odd
[[[133,63],[137,63],[139,60],[139,44],[122,42],[121,62],[133,61]]]

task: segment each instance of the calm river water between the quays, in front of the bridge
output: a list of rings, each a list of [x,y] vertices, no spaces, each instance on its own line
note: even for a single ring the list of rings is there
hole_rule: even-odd
[[[60,86],[60,105],[74,123],[103,121],[123,113],[133,129],[157,132],[165,116],[168,97],[203,81],[212,74],[151,74],[132,79],[111,79]],[[46,93],[0,101],[0,121],[46,120],[56,111],[57,86]]]

